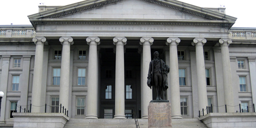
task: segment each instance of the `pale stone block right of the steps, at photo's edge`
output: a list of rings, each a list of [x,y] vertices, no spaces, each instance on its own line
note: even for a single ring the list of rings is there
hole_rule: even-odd
[[[255,128],[256,113],[209,113],[199,120],[209,128]]]

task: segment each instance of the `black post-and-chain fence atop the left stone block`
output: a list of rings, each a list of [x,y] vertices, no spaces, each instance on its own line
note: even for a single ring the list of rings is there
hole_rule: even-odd
[[[15,113],[17,113],[17,108],[20,110],[19,112],[23,112],[24,110],[24,113],[31,113],[31,109],[32,109],[32,106],[34,107],[44,107],[44,113],[47,113],[47,107],[50,108],[50,113],[64,113],[65,115],[68,116],[68,110],[62,106],[61,104],[60,105],[41,105],[41,106],[35,106],[35,105],[18,105],[16,104],[16,107],[15,107]],[[27,109],[26,109],[27,108]],[[29,110],[28,110],[29,108]]]

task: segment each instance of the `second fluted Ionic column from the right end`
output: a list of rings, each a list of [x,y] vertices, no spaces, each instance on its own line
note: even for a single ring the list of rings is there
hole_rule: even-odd
[[[196,71],[198,83],[198,100],[199,110],[206,109],[207,103],[207,90],[206,90],[206,75],[204,65],[204,49],[203,45],[206,43],[204,38],[195,38],[192,45],[196,45]],[[204,111],[206,114],[206,110]],[[203,114],[203,113],[201,113]]]

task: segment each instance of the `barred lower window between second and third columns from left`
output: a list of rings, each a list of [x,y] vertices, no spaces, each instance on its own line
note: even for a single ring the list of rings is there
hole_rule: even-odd
[[[76,97],[76,115],[85,115],[85,96]]]

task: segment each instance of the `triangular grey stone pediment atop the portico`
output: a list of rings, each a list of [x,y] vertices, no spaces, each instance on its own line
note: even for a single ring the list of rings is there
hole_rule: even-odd
[[[231,27],[236,18],[177,0],[85,0],[29,15],[40,24],[219,25]],[[119,24],[117,23],[117,24]]]

